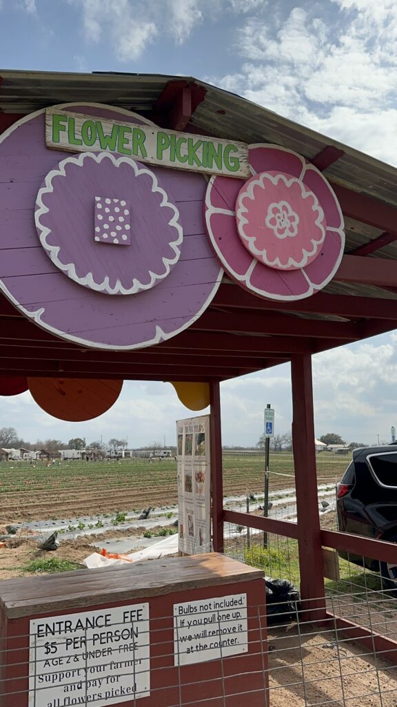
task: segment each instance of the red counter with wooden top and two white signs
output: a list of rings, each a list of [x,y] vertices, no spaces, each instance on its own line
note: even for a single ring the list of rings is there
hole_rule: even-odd
[[[215,553],[5,580],[0,707],[263,707],[265,604]]]

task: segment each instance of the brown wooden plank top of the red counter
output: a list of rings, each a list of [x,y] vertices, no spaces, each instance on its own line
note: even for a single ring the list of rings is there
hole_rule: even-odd
[[[3,580],[0,582],[0,607],[6,617],[17,619],[262,577],[263,571],[213,552]]]

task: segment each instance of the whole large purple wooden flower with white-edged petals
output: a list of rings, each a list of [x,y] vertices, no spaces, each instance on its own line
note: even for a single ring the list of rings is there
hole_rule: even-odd
[[[150,124],[105,105],[59,108]],[[140,349],[211,303],[223,271],[204,232],[202,175],[49,149],[40,110],[1,134],[0,182],[0,211],[15,216],[1,233],[0,289],[40,327],[84,347]]]

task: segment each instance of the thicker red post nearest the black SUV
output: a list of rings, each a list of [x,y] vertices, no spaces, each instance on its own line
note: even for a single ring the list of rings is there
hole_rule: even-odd
[[[323,552],[317,496],[316,449],[312,357],[297,354],[291,359],[292,445],[297,494],[297,525],[300,559],[300,592],[307,618],[325,617]],[[311,600],[311,601],[307,601]],[[309,614],[309,616],[308,616]]]

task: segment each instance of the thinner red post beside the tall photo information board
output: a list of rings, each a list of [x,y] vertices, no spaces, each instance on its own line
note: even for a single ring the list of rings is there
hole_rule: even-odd
[[[223,468],[219,381],[210,381],[213,550],[223,552]]]

